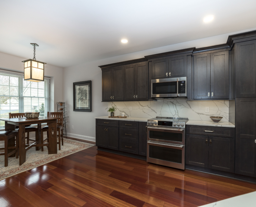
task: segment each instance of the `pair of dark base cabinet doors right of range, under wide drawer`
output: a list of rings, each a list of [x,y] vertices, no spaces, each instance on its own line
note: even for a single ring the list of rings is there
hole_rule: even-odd
[[[234,138],[186,135],[186,164],[234,173]]]

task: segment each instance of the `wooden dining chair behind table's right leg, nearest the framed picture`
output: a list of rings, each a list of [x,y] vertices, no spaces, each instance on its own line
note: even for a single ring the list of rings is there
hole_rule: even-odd
[[[59,150],[61,150],[61,141],[62,141],[62,146],[63,146],[63,112],[47,112],[47,117],[58,117],[59,119],[57,119],[57,131],[58,131],[58,142],[57,144],[59,144]],[[47,126],[42,128],[42,132],[41,132],[41,140],[42,140],[42,144],[48,140],[49,138],[49,134],[48,134],[48,123]],[[44,134],[43,132],[47,132],[47,138],[44,139]],[[44,148],[42,147],[42,151],[44,151]]]

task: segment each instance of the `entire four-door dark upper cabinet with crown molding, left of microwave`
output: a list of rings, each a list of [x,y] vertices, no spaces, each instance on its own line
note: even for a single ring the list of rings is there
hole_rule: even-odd
[[[148,100],[148,61],[102,65],[102,101]]]

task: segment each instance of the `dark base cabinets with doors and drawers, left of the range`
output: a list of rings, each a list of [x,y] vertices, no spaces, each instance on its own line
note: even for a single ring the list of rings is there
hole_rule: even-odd
[[[96,146],[147,156],[146,127],[147,122],[96,119]]]

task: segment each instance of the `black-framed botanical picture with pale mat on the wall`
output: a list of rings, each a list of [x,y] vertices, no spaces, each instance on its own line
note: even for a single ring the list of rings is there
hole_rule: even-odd
[[[91,80],[73,83],[74,111],[91,112]]]

